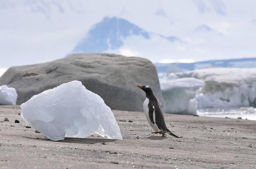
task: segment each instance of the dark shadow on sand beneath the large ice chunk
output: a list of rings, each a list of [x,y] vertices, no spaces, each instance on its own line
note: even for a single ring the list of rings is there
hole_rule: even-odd
[[[51,141],[50,139],[44,138],[33,138],[33,137],[23,137],[29,138],[34,140],[41,140],[41,141]],[[115,142],[114,139],[105,139],[105,138],[72,138],[72,137],[65,137],[65,140],[59,140],[56,142],[62,143],[78,143],[78,144],[95,144],[95,143],[107,143],[107,142]]]

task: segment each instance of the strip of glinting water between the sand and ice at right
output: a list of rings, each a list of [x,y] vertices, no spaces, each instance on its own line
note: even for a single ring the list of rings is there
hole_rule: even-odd
[[[256,109],[254,107],[241,107],[231,109],[198,109],[198,116],[242,118],[256,120]]]

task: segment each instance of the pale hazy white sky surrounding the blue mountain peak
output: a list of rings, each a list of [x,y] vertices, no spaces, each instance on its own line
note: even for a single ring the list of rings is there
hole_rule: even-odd
[[[11,66],[65,57],[106,16],[180,39],[131,36],[106,52],[153,63],[255,57],[255,6],[254,0],[1,0],[0,75]]]

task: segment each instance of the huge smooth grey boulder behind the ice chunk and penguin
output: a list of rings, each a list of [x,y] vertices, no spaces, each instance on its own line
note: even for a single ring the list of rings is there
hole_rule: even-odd
[[[136,85],[149,85],[163,107],[156,68],[139,57],[72,54],[48,63],[10,67],[0,77],[0,85],[15,88],[17,104],[22,104],[33,95],[73,80],[100,95],[111,109],[127,111],[143,111],[146,96]]]

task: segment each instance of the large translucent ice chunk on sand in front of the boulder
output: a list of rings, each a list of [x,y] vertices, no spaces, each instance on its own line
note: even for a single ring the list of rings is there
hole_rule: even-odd
[[[80,81],[34,95],[20,107],[26,123],[54,141],[64,137],[84,138],[93,133],[122,139],[111,109]]]

